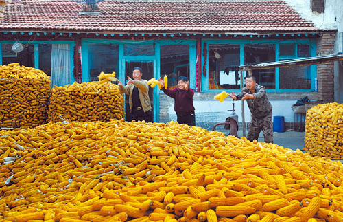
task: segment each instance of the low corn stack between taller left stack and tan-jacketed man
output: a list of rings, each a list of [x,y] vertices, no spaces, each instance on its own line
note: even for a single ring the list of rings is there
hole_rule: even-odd
[[[110,82],[74,82],[51,89],[49,120],[108,121],[123,118],[123,95]]]

